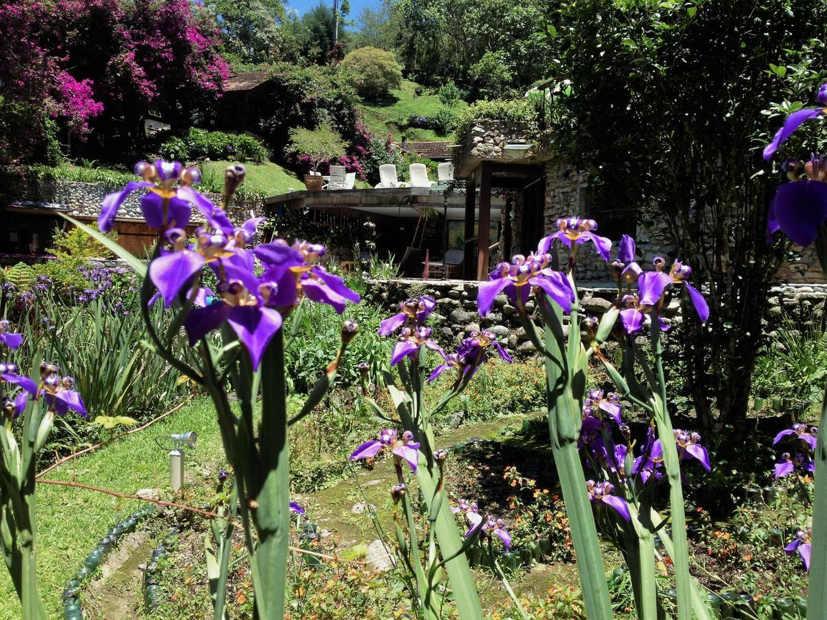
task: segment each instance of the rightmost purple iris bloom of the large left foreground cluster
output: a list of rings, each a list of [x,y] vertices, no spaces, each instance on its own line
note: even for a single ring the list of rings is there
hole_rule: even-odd
[[[327,273],[320,261],[324,246],[295,241],[288,246],[282,239],[257,246],[253,252],[265,265],[264,277],[276,284],[271,303],[276,308],[292,308],[301,298],[327,303],[339,314],[348,301],[359,303],[358,293],[345,286],[337,275]]]

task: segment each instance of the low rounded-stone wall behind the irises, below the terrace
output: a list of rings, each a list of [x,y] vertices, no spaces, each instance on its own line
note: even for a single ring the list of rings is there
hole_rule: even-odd
[[[480,317],[476,308],[479,283],[461,280],[393,279],[368,280],[363,296],[365,303],[374,303],[388,315],[399,312],[400,301],[418,295],[430,295],[437,301],[432,317],[436,318],[434,336],[448,350],[456,347],[461,339],[475,329],[490,329],[504,344],[510,354],[518,358],[533,355],[535,350],[528,340],[517,316],[517,308],[504,294],[495,300],[494,308],[487,317]],[[600,317],[612,307],[617,290],[604,287],[581,287],[581,312]],[[785,284],[774,287],[770,292],[770,306],[767,312],[768,332],[781,327],[795,327],[819,320],[827,300],[827,284],[801,285]],[[529,300],[526,308],[533,311],[534,302]],[[677,329],[681,324],[681,303],[673,296],[663,312],[666,322]],[[568,317],[563,317],[567,331]]]

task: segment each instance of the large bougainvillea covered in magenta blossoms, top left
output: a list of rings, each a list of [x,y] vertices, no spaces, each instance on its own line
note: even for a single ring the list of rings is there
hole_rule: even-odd
[[[213,17],[188,0],[17,0],[0,6],[0,162],[59,141],[136,145],[149,107],[189,117],[229,67]],[[94,131],[93,131],[94,130]]]

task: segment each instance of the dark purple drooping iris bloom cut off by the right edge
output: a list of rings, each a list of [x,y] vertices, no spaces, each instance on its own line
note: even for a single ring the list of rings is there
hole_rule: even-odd
[[[785,161],[782,171],[790,182],[778,187],[770,203],[767,241],[783,231],[797,245],[809,246],[827,218],[827,158],[814,156],[803,166],[800,161]]]

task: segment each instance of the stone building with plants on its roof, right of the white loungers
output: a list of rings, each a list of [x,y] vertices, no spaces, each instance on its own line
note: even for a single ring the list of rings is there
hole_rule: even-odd
[[[539,137],[538,137],[539,136]],[[557,230],[560,217],[592,217],[600,221],[600,235],[619,241],[624,233],[633,235],[643,262],[657,255],[673,255],[663,227],[645,227],[638,222],[612,221],[590,201],[587,174],[575,165],[552,155],[550,138],[536,126],[497,120],[471,123],[454,152],[455,176],[465,179],[466,192],[465,279],[487,279],[490,266],[500,257],[528,254],[538,241]],[[506,200],[500,217],[499,236],[485,236],[488,227],[471,220],[472,209],[479,222],[488,222],[492,191],[500,190]],[[476,203],[473,198],[478,196]],[[499,241],[497,254],[487,248]],[[479,249],[483,250],[480,251]],[[606,282],[605,262],[595,252],[578,255],[578,281]],[[784,265],[777,279],[792,284],[823,284],[814,248],[799,253],[799,260]]]

